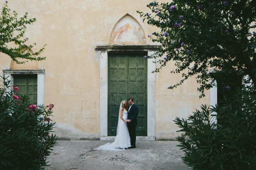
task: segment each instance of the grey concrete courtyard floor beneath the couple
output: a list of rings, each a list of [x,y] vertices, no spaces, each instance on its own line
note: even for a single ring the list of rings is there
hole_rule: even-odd
[[[47,159],[50,166],[46,170],[190,169],[181,160],[183,152],[176,146],[177,141],[136,141],[134,149],[93,150],[107,142],[113,141],[59,140]]]

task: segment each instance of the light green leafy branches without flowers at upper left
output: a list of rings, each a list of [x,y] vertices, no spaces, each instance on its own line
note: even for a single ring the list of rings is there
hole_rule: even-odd
[[[28,19],[26,12],[20,18],[15,11],[12,11],[7,6],[7,1],[3,4],[2,13],[0,15],[0,53],[9,55],[17,64],[27,62],[26,60],[44,60],[45,57],[35,57],[44,51],[43,48],[33,52],[32,48],[36,45],[26,46],[28,38],[24,38],[27,25],[31,25],[36,21],[36,18]],[[11,47],[10,47],[11,46]],[[18,59],[25,59],[19,61]]]

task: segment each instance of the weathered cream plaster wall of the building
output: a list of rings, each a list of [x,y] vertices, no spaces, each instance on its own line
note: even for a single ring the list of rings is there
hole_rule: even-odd
[[[146,7],[150,2],[9,0],[10,9],[18,14],[28,12],[30,18],[37,19],[28,26],[26,45],[36,42],[33,51],[37,51],[47,43],[42,55],[46,60],[38,62],[38,69],[45,70],[44,102],[55,105],[51,119],[56,122],[55,131],[60,138],[100,138],[100,58],[94,47],[109,45],[114,26],[125,14],[141,25],[146,44],[155,44],[147,37],[155,28],[143,23],[136,13],[150,12]],[[0,54],[0,75],[2,70],[10,69],[10,63],[8,56]],[[169,73],[172,66],[170,63],[155,74],[156,139],[174,139],[178,128],[172,120],[186,117],[201,103],[210,103],[209,95],[199,100],[198,84],[193,78],[174,90],[167,89],[179,80],[179,75]]]

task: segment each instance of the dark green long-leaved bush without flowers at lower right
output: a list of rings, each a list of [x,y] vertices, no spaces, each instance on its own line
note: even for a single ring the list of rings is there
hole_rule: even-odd
[[[188,166],[194,170],[256,169],[256,95],[252,90],[238,89],[237,98],[224,100],[221,107],[202,105],[187,120],[176,117],[178,132],[184,132],[177,138],[178,146]]]

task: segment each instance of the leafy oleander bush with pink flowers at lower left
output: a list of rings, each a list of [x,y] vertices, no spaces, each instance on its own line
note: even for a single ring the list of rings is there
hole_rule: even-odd
[[[28,95],[16,95],[18,88],[1,78],[0,169],[42,169],[57,144],[56,135],[50,135],[54,105],[33,105]]]

